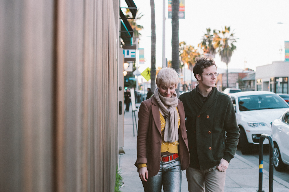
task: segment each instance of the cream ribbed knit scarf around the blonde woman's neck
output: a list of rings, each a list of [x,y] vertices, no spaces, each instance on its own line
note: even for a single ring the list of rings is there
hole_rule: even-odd
[[[179,132],[178,132],[178,113],[177,113],[177,105],[179,103],[177,98],[177,93],[174,92],[171,98],[163,97],[159,88],[155,88],[155,92],[153,94],[155,99],[157,100],[159,107],[162,112],[166,116],[166,125],[164,128],[164,141],[173,143],[179,140]],[[169,106],[167,109],[165,106]]]

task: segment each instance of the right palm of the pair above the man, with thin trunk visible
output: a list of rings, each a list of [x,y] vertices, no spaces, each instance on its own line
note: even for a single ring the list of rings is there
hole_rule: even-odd
[[[236,50],[236,38],[234,35],[235,33],[230,32],[230,27],[225,26],[225,29],[222,31],[219,31],[218,35],[216,35],[214,41],[216,42],[216,46],[218,46],[218,53],[221,57],[221,61],[225,62],[227,65],[227,88],[229,86],[228,83],[228,63],[231,60],[231,56]]]

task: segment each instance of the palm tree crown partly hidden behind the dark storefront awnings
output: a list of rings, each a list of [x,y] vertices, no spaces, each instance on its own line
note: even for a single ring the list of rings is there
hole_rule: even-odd
[[[125,13],[127,18],[132,18],[132,14],[129,9],[127,9]],[[139,31],[144,28],[142,25],[137,24],[137,20],[140,20],[144,15],[142,13],[138,13],[138,10],[136,11],[136,14],[137,16],[135,19],[128,19],[131,28],[134,30],[134,33],[132,35],[133,44],[139,44],[139,37],[142,35]]]

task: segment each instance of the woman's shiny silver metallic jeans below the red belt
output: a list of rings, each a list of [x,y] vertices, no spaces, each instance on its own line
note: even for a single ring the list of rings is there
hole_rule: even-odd
[[[179,157],[175,160],[160,163],[160,171],[146,181],[142,181],[144,192],[161,192],[162,185],[164,192],[181,191],[181,162]]]

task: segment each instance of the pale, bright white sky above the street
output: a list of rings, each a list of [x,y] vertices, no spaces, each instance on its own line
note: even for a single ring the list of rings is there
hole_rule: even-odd
[[[156,67],[162,66],[162,0],[155,2],[156,24]],[[171,60],[171,19],[168,19],[166,2],[166,58]],[[144,16],[138,24],[140,31],[139,48],[144,48],[145,64],[140,71],[150,67],[151,58],[151,7],[149,0],[134,0],[139,12]],[[121,0],[125,7],[125,1]],[[206,28],[222,30],[231,26],[234,30],[237,49],[234,51],[228,68],[255,70],[256,66],[284,60],[284,41],[289,41],[289,0],[185,0],[185,19],[179,19],[179,42],[185,41],[195,48],[201,42]],[[277,24],[282,22],[284,24]],[[282,52],[280,55],[280,48]],[[245,63],[244,61],[247,61]],[[216,54],[218,68],[226,68]]]

